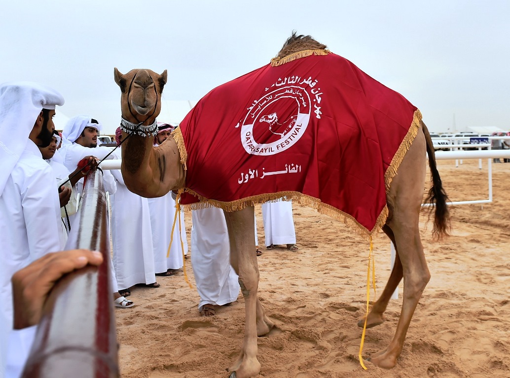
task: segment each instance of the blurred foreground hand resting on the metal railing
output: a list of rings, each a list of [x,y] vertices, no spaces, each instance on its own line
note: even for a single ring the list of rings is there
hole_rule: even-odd
[[[12,276],[14,328],[39,323],[41,312],[55,283],[65,274],[86,265],[98,266],[103,255],[98,251],[72,249],[48,253]]]

